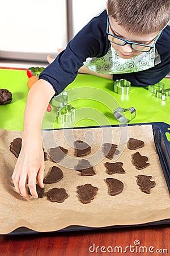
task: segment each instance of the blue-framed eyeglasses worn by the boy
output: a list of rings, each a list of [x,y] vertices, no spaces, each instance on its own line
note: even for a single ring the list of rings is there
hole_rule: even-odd
[[[163,31],[163,30],[162,30]],[[107,34],[108,34],[108,40],[112,42],[113,44],[117,44],[118,46],[125,46],[125,44],[130,44],[131,48],[135,51],[139,52],[149,52],[152,48],[154,48],[156,41],[159,39],[159,36],[161,35],[162,31],[156,36],[154,40],[154,43],[151,46],[148,46],[147,44],[139,44],[135,42],[129,42],[128,40],[119,38],[116,35],[109,33],[109,15],[107,18]]]

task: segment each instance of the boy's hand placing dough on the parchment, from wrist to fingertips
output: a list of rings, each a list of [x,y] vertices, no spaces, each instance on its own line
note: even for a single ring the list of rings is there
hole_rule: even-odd
[[[16,163],[12,180],[15,185],[16,192],[20,196],[29,200],[30,196],[27,192],[27,181],[31,195],[35,198],[38,197],[36,192],[36,180],[40,187],[43,188],[44,177],[44,152],[42,150],[41,141],[31,139],[31,143],[22,146]]]

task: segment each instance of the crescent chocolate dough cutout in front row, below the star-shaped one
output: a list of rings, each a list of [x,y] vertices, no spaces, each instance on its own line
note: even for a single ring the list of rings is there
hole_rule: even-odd
[[[106,183],[109,187],[109,195],[116,196],[120,194],[124,189],[124,183],[122,181],[113,179],[113,178],[107,178]]]

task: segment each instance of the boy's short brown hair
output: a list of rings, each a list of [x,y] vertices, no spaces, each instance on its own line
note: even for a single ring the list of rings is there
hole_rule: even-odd
[[[108,0],[108,13],[127,32],[147,35],[170,19],[170,0]]]

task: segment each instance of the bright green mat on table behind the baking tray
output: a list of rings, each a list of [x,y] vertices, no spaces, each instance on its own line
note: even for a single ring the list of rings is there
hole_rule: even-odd
[[[26,71],[0,69],[0,89],[8,89],[12,93],[12,102],[0,105],[0,129],[23,130],[24,108],[28,94],[27,80]],[[165,88],[170,88],[170,79],[162,81]],[[170,124],[170,97],[162,101],[144,87],[132,86],[129,96],[121,96],[113,92],[113,81],[79,74],[66,90],[71,90],[76,95],[75,99],[69,102],[74,106],[75,114],[79,117],[79,121],[74,123],[75,127],[116,125],[117,120],[113,116],[113,110],[117,106],[136,108],[137,115],[130,123]],[[55,116],[54,109],[52,112],[46,112],[42,129],[61,128],[62,125],[57,124]],[[71,127],[73,123],[67,124],[67,127],[69,125]]]

